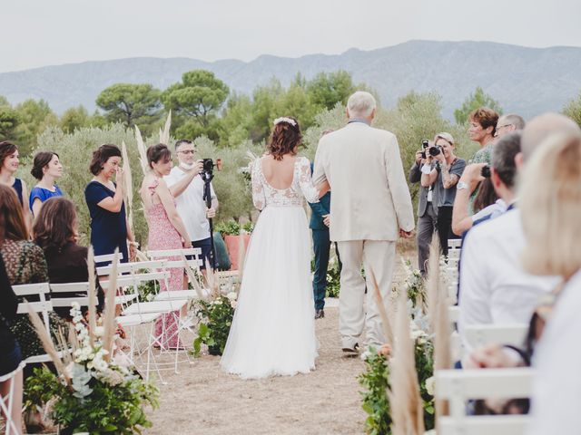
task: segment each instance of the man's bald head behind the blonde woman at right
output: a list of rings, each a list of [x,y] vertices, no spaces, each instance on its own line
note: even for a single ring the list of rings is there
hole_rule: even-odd
[[[520,140],[525,161],[530,159],[538,146],[556,133],[580,133],[581,129],[570,118],[559,113],[544,113],[527,122]]]

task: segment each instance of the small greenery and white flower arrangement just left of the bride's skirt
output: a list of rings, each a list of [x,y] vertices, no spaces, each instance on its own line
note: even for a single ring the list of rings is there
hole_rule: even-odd
[[[208,346],[211,355],[222,355],[234,309],[236,308],[238,294],[230,292],[228,295],[217,295],[213,300],[199,300],[196,302],[195,314],[200,319],[198,336],[193,341],[193,355],[200,356],[202,344]]]

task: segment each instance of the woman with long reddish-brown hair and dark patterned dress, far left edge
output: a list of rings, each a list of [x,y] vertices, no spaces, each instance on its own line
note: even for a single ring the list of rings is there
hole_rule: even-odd
[[[30,241],[28,229],[15,191],[0,186],[0,254],[4,258],[11,285],[45,283],[48,281],[43,250]],[[27,298],[29,301],[30,296]],[[56,343],[58,327],[64,322],[54,312],[48,313]],[[34,332],[28,314],[18,314],[12,332],[20,344],[23,358],[44,354],[43,345]]]

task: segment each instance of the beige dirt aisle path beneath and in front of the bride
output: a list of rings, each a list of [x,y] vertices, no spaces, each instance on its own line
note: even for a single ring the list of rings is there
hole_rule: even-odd
[[[404,272],[396,263],[394,283]],[[242,381],[220,370],[219,357],[204,355],[180,374],[165,374],[161,406],[151,412],[153,434],[361,434],[357,377],[365,369],[359,358],[340,350],[336,300],[316,322],[320,341],[317,370],[293,377]],[[166,372],[167,373],[167,372]]]

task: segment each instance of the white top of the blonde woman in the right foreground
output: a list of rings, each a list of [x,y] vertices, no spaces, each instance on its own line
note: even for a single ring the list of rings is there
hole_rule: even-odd
[[[532,420],[527,435],[574,434],[581,428],[581,272],[573,275],[557,297],[555,308],[537,344],[533,365]]]

